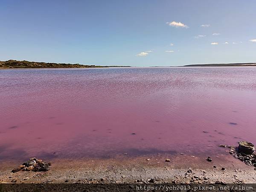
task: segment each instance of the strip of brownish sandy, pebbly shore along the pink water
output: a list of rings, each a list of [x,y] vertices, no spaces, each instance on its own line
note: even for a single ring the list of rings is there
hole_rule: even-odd
[[[53,159],[47,172],[16,173],[11,170],[22,162],[4,161],[0,163],[0,183],[255,183],[253,166],[229,154],[212,159],[208,162],[203,157],[178,155],[165,162],[163,154],[114,159]],[[189,167],[192,172],[188,172]]]

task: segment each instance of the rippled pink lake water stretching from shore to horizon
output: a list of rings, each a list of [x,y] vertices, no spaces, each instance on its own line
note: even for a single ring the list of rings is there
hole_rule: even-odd
[[[218,154],[239,140],[256,143],[256,67],[0,70],[0,160]]]

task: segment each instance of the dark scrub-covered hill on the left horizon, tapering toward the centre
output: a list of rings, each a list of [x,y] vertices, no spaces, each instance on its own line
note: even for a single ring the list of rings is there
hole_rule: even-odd
[[[44,63],[34,61],[0,61],[0,68],[89,68],[89,67],[130,67],[130,66],[97,66],[65,63]]]

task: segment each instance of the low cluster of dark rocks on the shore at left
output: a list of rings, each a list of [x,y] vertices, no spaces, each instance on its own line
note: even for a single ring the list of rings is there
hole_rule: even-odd
[[[29,159],[28,161],[24,162],[22,165],[13,169],[12,172],[16,173],[20,170],[22,171],[33,171],[33,172],[47,172],[51,166],[51,163],[46,163],[41,159],[37,159],[35,157]]]

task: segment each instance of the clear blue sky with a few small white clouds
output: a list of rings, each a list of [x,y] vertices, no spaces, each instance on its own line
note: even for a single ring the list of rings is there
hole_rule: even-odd
[[[1,0],[0,61],[256,62],[255,10],[255,0]]]

